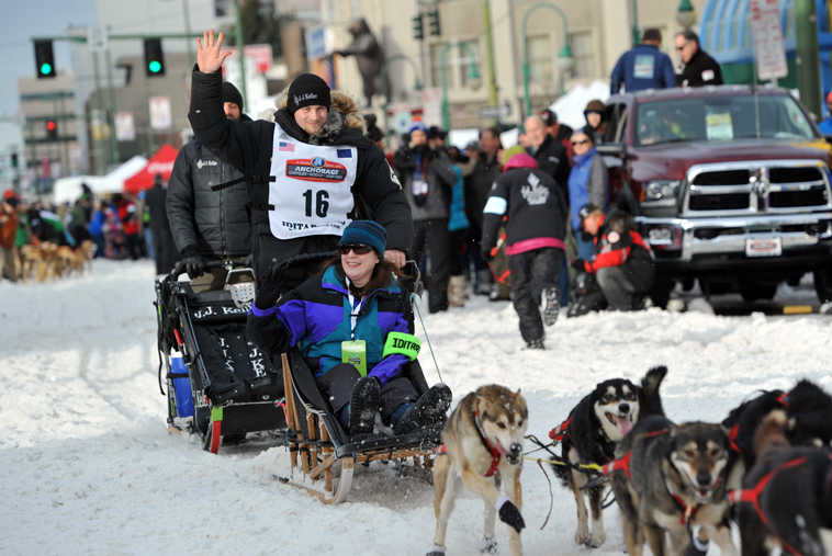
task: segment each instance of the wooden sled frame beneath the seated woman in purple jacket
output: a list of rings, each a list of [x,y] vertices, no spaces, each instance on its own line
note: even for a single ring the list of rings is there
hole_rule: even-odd
[[[347,499],[358,464],[392,462],[401,474],[424,474],[429,480],[443,423],[398,435],[387,431],[350,438],[322,396],[303,356],[292,351],[281,359],[292,477],[278,477],[279,480],[306,490],[324,503]],[[404,372],[419,394],[428,389],[418,361]],[[300,480],[294,479],[296,473]]]

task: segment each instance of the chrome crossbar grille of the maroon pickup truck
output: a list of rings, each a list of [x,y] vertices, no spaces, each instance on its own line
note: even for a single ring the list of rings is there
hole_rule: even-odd
[[[811,160],[699,164],[688,170],[684,212],[765,214],[830,207],[824,167]]]

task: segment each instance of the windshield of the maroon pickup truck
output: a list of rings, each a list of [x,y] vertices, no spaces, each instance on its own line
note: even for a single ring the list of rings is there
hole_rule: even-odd
[[[643,102],[638,105],[636,126],[638,145],[816,137],[803,111],[788,94]]]

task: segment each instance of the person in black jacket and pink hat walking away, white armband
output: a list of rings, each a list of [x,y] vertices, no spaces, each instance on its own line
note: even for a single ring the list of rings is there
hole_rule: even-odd
[[[542,350],[543,325],[552,326],[560,309],[555,276],[564,261],[566,206],[561,189],[522,147],[511,147],[506,157],[485,204],[483,257],[491,257],[507,216],[506,254],[520,334],[529,349]]]

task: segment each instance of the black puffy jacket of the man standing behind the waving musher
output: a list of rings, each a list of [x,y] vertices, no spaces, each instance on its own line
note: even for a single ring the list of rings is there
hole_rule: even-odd
[[[179,252],[185,256],[199,252],[213,259],[246,257],[251,252],[246,184],[211,190],[212,185],[241,175],[196,140],[182,147],[170,174],[167,198],[170,231]]]

